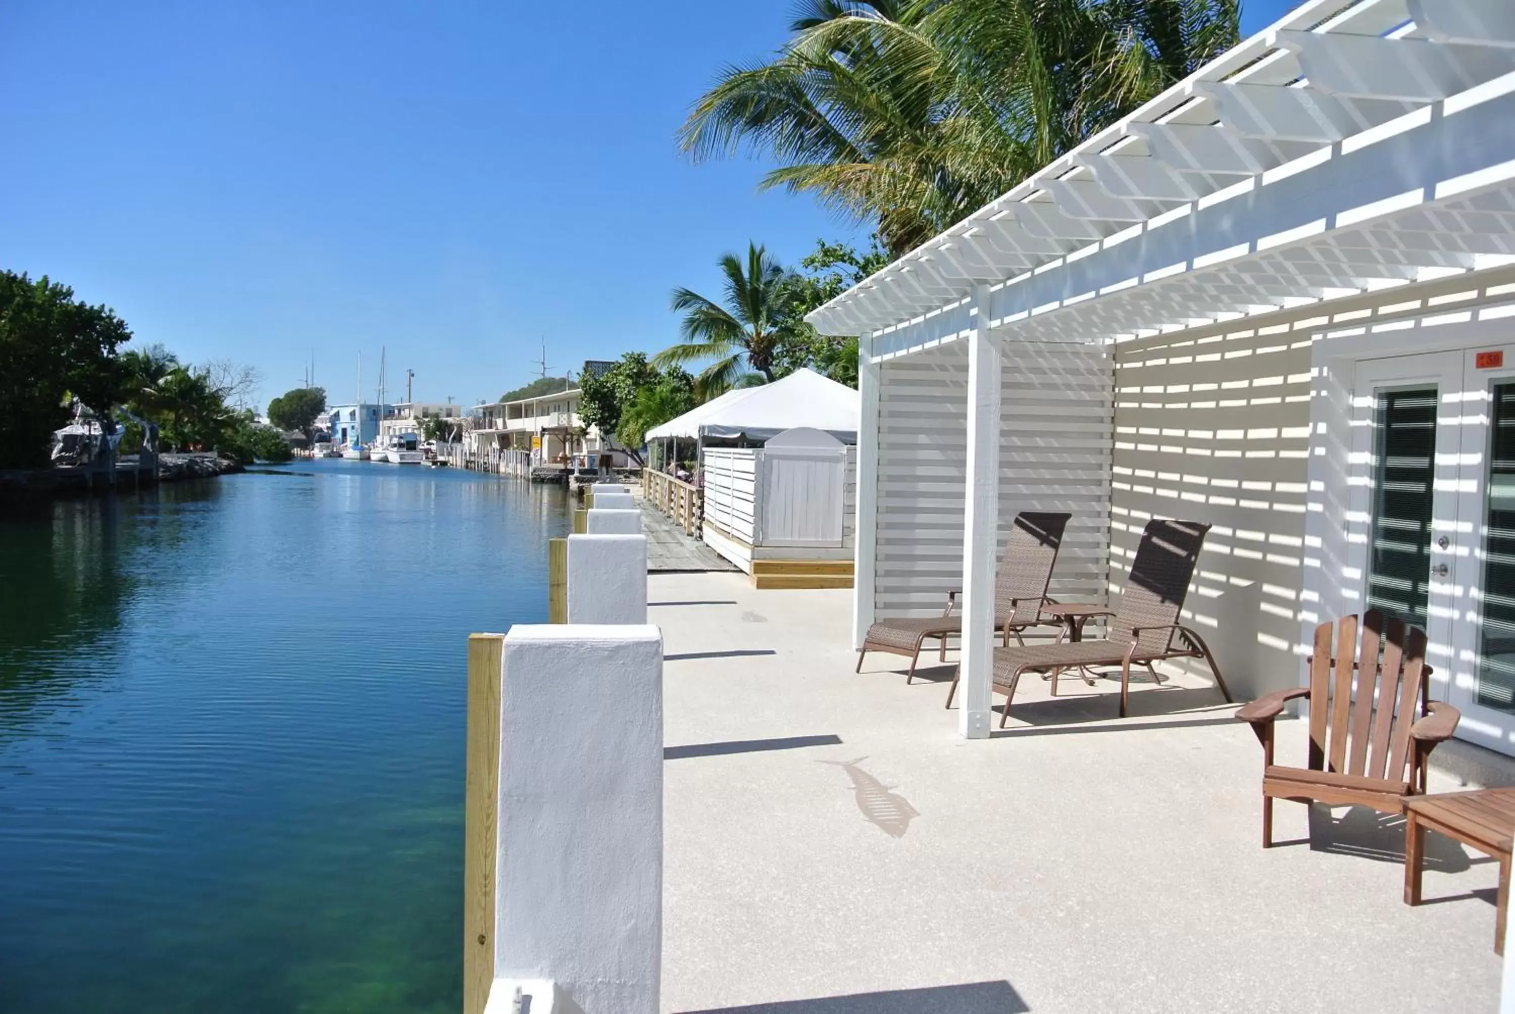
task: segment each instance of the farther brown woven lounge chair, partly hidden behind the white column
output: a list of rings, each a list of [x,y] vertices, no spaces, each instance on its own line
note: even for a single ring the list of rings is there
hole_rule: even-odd
[[[1051,568],[1062,547],[1062,534],[1071,517],[1071,514],[1032,511],[1015,515],[1011,534],[1004,540],[1000,568],[994,576],[994,632],[1003,634],[1006,644],[1012,635],[1020,640],[1020,632],[1026,627],[1048,621],[1042,618],[1041,608],[1042,603],[1051,602],[1047,597],[1047,584],[1051,581]],[[915,664],[921,658],[921,646],[929,637],[941,641],[938,658],[945,662],[947,638],[962,634],[962,615],[954,612],[956,605],[957,593],[948,591],[947,611],[939,617],[879,620],[868,627],[857,652],[857,668],[853,671],[862,671],[862,659],[868,652],[889,652],[911,659],[911,670],[904,674],[904,682],[911,682],[915,678]]]

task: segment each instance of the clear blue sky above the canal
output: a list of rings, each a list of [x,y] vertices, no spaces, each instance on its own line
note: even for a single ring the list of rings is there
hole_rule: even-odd
[[[1250,0],[1253,32],[1291,5]],[[126,8],[135,8],[127,11]],[[676,336],[748,238],[864,239],[765,165],[674,146],[789,3],[0,2],[0,267],[229,356],[262,402],[315,355],[336,399],[415,370],[477,402]]]

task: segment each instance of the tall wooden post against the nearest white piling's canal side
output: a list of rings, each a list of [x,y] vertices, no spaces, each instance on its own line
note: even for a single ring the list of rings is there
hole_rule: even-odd
[[[503,634],[468,635],[468,762],[464,790],[464,1014],[483,1014],[494,982],[494,861],[500,834]]]

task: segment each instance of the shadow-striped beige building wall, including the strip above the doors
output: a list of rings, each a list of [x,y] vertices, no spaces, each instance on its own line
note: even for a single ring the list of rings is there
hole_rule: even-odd
[[[1147,520],[1207,521],[1185,623],[1238,699],[1301,685],[1306,627],[1362,608],[1339,546],[1350,359],[1456,346],[1456,326],[1412,324],[1507,299],[1512,279],[1448,277],[1117,346],[1112,602]],[[1301,603],[1306,588],[1318,600]]]

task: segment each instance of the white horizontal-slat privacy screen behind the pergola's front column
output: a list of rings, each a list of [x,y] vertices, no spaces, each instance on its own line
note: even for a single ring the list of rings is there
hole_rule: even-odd
[[[932,615],[962,584],[968,346],[879,373],[877,615]],[[1103,350],[1011,343],[1003,368],[1000,543],[1018,511],[1070,511],[1051,594],[1103,602],[1112,374]]]

